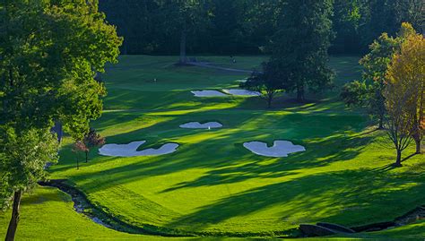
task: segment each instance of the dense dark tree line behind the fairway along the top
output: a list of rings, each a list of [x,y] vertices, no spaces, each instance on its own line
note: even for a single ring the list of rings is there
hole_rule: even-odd
[[[423,32],[423,0],[334,0],[330,52],[358,54],[402,22]],[[287,0],[104,0],[100,10],[125,37],[124,54],[178,54],[182,32],[190,54],[265,53]],[[184,28],[186,28],[184,30]]]

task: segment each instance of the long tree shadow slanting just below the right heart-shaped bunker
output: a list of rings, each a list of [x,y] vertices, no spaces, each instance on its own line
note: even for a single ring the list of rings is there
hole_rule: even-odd
[[[266,161],[266,164],[263,161],[271,158],[253,157],[255,154],[244,151],[245,154],[241,159],[253,159],[253,161],[242,165],[213,168],[196,180],[181,182],[160,193],[172,192],[181,188],[232,184],[258,177],[278,178],[297,175],[299,174],[299,169],[325,167],[335,161],[354,159],[370,140],[370,137],[344,138],[343,136],[338,136],[331,140],[316,142],[314,145],[311,144],[308,146],[307,151],[290,154],[288,158],[272,158],[273,161]],[[331,147],[338,148],[333,150]]]

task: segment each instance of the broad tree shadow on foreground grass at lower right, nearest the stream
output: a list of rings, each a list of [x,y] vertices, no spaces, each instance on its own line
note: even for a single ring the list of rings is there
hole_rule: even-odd
[[[373,170],[302,176],[223,198],[169,222],[166,227],[204,230],[234,217],[275,210],[276,206],[281,211],[277,215],[273,213],[273,216],[280,217],[282,227],[317,221],[356,226],[392,220],[421,204],[425,195],[421,192],[423,184],[397,188],[402,185],[405,185],[404,178],[386,176]],[[410,198],[412,196],[414,200]]]

